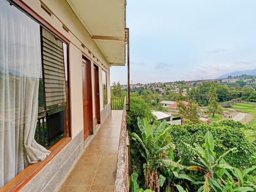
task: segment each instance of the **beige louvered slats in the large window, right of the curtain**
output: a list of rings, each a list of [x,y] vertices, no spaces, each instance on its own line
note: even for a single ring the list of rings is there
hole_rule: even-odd
[[[42,51],[46,107],[66,102],[62,42],[42,28]]]

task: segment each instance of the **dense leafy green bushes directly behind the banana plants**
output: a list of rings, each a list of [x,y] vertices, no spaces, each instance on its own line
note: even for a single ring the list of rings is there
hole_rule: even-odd
[[[237,153],[230,153],[225,157],[228,164],[234,167],[250,167],[253,165],[255,147],[245,138],[243,129],[245,125],[232,120],[213,123],[212,125],[172,125],[170,134],[175,144],[175,157],[181,159],[181,164],[189,165],[189,159],[193,158],[191,150],[183,145],[183,141],[193,145],[203,145],[204,135],[207,130],[211,131],[215,140],[215,153],[217,156],[228,149],[237,148]],[[178,161],[175,159],[175,161]]]

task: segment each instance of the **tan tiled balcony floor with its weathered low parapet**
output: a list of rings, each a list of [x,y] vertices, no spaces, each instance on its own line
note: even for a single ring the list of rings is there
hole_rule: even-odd
[[[126,105],[111,110],[59,191],[128,191]]]

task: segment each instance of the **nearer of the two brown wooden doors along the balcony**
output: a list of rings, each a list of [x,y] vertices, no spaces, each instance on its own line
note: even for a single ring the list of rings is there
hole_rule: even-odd
[[[84,140],[89,136],[92,121],[92,110],[91,110],[91,74],[90,74],[90,61],[83,59],[83,116],[84,116]]]

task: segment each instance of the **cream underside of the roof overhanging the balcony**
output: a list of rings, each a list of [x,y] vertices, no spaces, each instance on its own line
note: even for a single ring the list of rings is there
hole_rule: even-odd
[[[125,65],[126,0],[66,0],[110,65]]]

